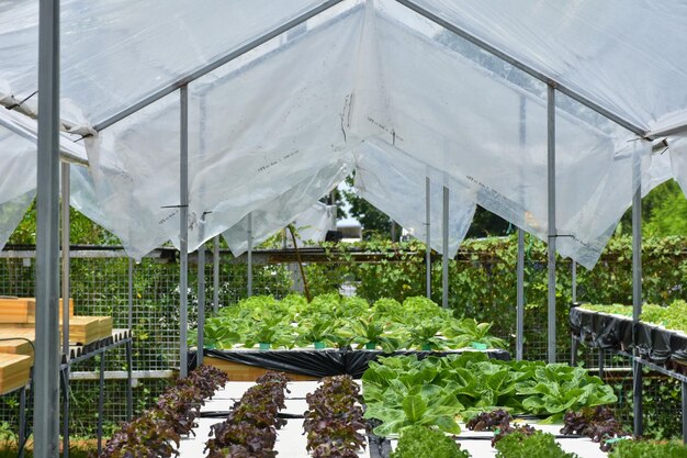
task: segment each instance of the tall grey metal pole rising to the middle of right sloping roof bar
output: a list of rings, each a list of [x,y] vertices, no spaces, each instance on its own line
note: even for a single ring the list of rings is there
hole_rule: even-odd
[[[547,110],[547,181],[549,206],[549,362],[555,362],[555,89],[549,86]]]

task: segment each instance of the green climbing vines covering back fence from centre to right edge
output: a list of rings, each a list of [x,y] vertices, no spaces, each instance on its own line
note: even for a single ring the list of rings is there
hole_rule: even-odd
[[[380,253],[375,262],[354,260],[350,245],[325,244],[333,264],[306,266],[314,294],[338,289],[345,283],[356,286],[356,293],[374,302],[381,298],[404,301],[425,295],[425,246],[419,241],[391,243],[371,241],[352,248]],[[507,337],[515,350],[517,236],[466,239],[455,260],[449,264],[449,308],[455,316],[477,322],[494,322],[489,332]],[[594,270],[577,269],[577,300],[593,303],[630,303],[632,300],[631,237],[611,238]],[[547,332],[547,252],[545,245],[526,235],[525,357],[544,358]],[[687,237],[647,237],[642,245],[643,292],[645,300],[666,304],[687,300]],[[567,308],[572,301],[570,260],[556,261],[556,324],[567,327]],[[441,300],[441,262],[432,262],[432,299]],[[497,317],[497,319],[496,319]],[[558,345],[570,346],[566,333],[558,333]]]

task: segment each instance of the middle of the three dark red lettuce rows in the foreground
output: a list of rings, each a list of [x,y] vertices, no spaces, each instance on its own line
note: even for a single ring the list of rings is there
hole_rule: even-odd
[[[277,429],[285,424],[286,383],[282,372],[268,371],[234,403],[227,418],[211,426],[207,458],[273,458]]]

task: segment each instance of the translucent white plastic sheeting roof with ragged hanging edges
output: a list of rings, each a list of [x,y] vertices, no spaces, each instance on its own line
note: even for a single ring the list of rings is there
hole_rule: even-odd
[[[63,2],[63,119],[89,131],[322,3],[200,8],[177,0],[153,10],[128,0]],[[684,2],[417,4],[642,131],[687,119]],[[5,103],[35,91],[36,9],[33,1],[0,1]],[[374,150],[368,143],[388,145],[380,154],[402,155],[391,161],[396,171],[406,159],[440,170],[452,194],[473,197],[464,211],[478,203],[547,235],[545,83],[396,1],[342,1],[190,82],[189,91],[190,250],[252,211],[266,214],[279,199],[294,203],[289,196],[307,196],[313,200],[299,205],[309,205],[337,174],[356,167],[354,153],[360,158]],[[171,93],[86,141],[102,216],[134,257],[167,239],[178,244],[179,107]],[[687,191],[686,142],[668,143],[669,161],[652,156],[650,142],[556,94],[562,255],[587,267],[596,262],[639,186],[635,171],[644,192],[671,176]],[[365,181],[394,176],[374,163],[363,170]],[[407,193],[424,196],[421,180],[408,182],[416,181],[421,188]],[[394,217],[408,226],[421,220],[417,209]],[[254,231],[273,224],[274,217],[254,219]],[[463,227],[452,234],[457,246]]]

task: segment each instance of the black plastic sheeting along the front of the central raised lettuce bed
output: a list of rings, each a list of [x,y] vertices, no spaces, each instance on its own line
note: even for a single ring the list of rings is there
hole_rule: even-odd
[[[261,367],[264,369],[300,373],[309,377],[330,377],[349,375],[354,379],[362,377],[370,361],[380,356],[417,355],[423,359],[428,356],[460,355],[461,350],[451,351],[413,351],[399,350],[385,354],[381,350],[353,350],[353,349],[295,349],[295,350],[216,350],[205,349],[204,355],[232,362]],[[506,350],[483,351],[489,358],[510,360],[510,354]],[[189,354],[190,370],[195,367],[195,353]]]

